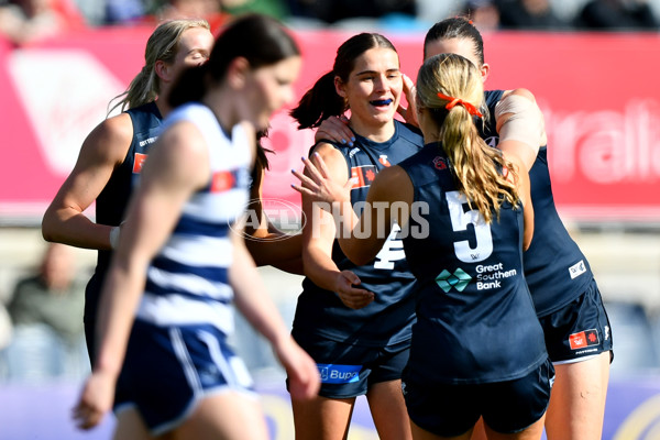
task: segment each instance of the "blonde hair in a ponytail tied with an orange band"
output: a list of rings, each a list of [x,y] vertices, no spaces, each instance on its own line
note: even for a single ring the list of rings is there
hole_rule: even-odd
[[[453,99],[448,100],[448,97],[465,105],[459,101],[452,107]],[[466,196],[470,207],[476,207],[490,223],[493,211],[499,218],[502,204],[508,201],[516,207],[519,196],[516,185],[503,175],[510,173],[517,180],[515,168],[502,152],[481,139],[469,111],[471,106],[479,109],[483,99],[483,81],[477,68],[460,55],[432,56],[419,69],[417,103],[438,125],[438,138],[452,164],[459,190]]]

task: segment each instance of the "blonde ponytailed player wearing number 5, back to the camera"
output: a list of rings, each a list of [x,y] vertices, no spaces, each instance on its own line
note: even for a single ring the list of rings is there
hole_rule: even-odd
[[[488,438],[539,439],[553,367],[522,273],[529,176],[480,138],[483,85],[470,61],[428,58],[416,97],[426,145],[376,177],[360,219],[343,202],[349,185],[329,179],[320,156],[306,161],[296,188],[339,213],[348,224],[339,244],[358,264],[383,244],[375,231],[402,228],[419,283],[403,387],[414,438],[466,440],[483,417]]]

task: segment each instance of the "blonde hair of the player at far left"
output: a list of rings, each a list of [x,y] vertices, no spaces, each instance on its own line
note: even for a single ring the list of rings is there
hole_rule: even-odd
[[[157,98],[161,92],[161,82],[155,70],[156,62],[174,63],[182,35],[185,31],[194,28],[204,28],[210,31],[209,23],[206,20],[188,19],[169,20],[156,28],[146,42],[142,70],[135,75],[129,88],[123,94],[110,100],[108,107],[114,100],[123,97],[108,110],[108,114],[118,107],[121,111],[124,111],[125,109],[152,102]]]

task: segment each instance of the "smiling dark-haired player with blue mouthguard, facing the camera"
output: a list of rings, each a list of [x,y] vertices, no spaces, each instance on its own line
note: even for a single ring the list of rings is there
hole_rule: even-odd
[[[332,72],[292,112],[300,128],[310,128],[350,108],[354,144],[321,141],[312,153],[326,160],[336,182],[352,178],[356,210],[381,170],[422,146],[416,129],[394,120],[403,91],[392,43],[363,33],[339,47]],[[293,399],[296,439],[345,438],[359,395],[366,395],[381,439],[409,439],[400,377],[415,320],[415,277],[396,229],[374,258],[356,265],[337,245],[332,217],[315,210],[305,196],[302,209],[307,277],[293,336],[317,362],[322,384],[315,402]]]

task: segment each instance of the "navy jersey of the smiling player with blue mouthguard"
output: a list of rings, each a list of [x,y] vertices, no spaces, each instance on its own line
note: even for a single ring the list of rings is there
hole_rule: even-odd
[[[356,211],[366,200],[376,174],[417,153],[422,144],[417,129],[396,120],[395,133],[387,142],[377,143],[356,134],[352,147],[333,144],[345,157],[349,175],[358,179],[351,190],[351,202]],[[403,244],[396,235],[396,232],[391,234],[374,261],[363,266],[355,266],[346,258],[336,240],[332,260],[340,271],[354,272],[362,282],[360,287],[373,292],[375,299],[369,306],[354,310],[344,306],[336,293],[305,278],[296,307],[294,331],[366,346],[409,339],[415,320],[415,277],[409,272]]]

